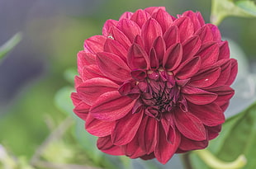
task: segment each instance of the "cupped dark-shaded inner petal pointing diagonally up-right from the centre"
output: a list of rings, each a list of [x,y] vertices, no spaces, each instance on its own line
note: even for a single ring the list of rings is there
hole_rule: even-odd
[[[176,77],[179,79],[187,79],[192,77],[198,72],[201,66],[201,58],[193,57],[192,59],[186,60],[184,63],[181,63],[180,66],[173,71],[176,74]]]

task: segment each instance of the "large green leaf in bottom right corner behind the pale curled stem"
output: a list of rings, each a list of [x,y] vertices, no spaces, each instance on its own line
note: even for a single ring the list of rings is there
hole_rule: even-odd
[[[254,169],[256,166],[255,147],[256,103],[226,120],[220,136],[212,140],[207,149],[224,162],[233,162],[239,155],[244,154],[247,159],[244,169]],[[194,153],[191,153],[190,159],[193,168],[209,168]]]

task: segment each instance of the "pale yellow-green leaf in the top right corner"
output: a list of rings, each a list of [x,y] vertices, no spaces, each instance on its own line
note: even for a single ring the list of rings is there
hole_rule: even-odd
[[[212,0],[211,23],[219,25],[227,16],[256,17],[255,3],[247,0]]]

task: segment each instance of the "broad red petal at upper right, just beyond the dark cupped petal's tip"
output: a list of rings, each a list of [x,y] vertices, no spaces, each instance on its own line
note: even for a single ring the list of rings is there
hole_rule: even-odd
[[[210,66],[218,60],[219,45],[215,42],[201,45],[201,49],[197,52],[197,56],[201,56],[201,67]]]

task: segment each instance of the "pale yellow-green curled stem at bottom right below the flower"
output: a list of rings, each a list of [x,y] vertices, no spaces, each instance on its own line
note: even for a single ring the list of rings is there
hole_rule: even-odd
[[[244,167],[247,162],[244,154],[239,155],[234,162],[223,162],[206,149],[196,150],[193,153],[196,153],[207,166],[214,169],[239,169]]]

